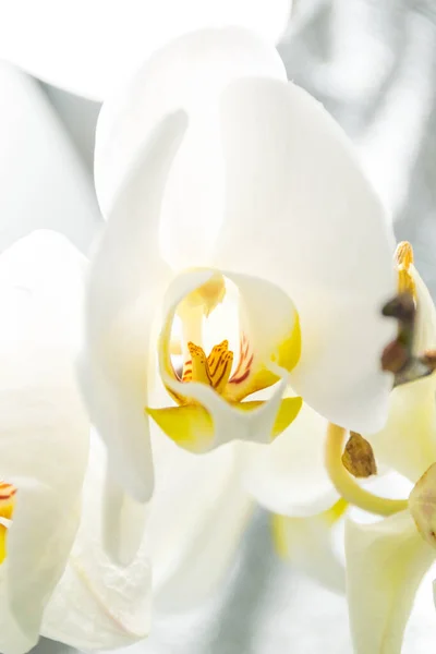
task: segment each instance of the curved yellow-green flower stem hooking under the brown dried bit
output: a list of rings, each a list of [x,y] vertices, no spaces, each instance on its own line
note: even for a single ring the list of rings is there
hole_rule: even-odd
[[[342,464],[342,451],[346,429],[329,423],[326,441],[326,468],[337,492],[349,504],[375,513],[377,516],[391,516],[408,508],[407,499],[388,499],[373,495],[354,481]]]

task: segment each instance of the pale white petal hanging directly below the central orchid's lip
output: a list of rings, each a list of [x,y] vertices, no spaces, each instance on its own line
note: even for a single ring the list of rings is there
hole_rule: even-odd
[[[203,602],[228,572],[253,501],[240,483],[239,453],[227,445],[192,455],[154,438],[156,489],[145,542],[157,611]]]

